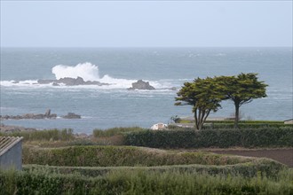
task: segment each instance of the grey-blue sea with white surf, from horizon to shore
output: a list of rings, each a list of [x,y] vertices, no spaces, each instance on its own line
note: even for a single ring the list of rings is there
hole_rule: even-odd
[[[190,106],[175,106],[176,90],[194,78],[257,73],[267,98],[242,105],[243,119],[293,118],[292,48],[1,48],[1,115],[68,112],[80,120],[1,121],[36,129],[149,128],[170,117],[191,116]],[[52,86],[38,79],[81,76],[108,86]],[[126,90],[142,79],[156,90]],[[16,83],[17,82],[17,83]],[[232,102],[211,117],[229,117]]]

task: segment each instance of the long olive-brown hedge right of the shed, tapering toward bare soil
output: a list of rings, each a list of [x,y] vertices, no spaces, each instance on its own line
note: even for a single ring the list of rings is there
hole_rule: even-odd
[[[69,167],[233,165],[254,159],[211,152],[168,152],[133,146],[70,146],[23,148],[23,163]]]

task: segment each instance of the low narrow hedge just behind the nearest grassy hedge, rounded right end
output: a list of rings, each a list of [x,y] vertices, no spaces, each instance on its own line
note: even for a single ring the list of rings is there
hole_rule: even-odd
[[[154,166],[154,167],[57,167],[57,166],[43,166],[43,165],[24,165],[23,170],[38,171],[44,170],[47,173],[58,174],[79,174],[84,176],[97,177],[106,175],[111,171],[123,170],[144,170],[156,172],[180,172],[180,173],[207,173],[209,175],[242,175],[245,177],[253,177],[256,175],[274,176],[281,170],[288,169],[281,163],[265,158],[257,158],[249,162],[243,162],[234,165],[170,165],[170,166]]]

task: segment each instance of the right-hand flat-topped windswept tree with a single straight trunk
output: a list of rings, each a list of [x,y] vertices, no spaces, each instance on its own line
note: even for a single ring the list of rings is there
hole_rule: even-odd
[[[230,99],[235,106],[234,128],[238,128],[239,110],[244,104],[250,103],[255,98],[265,98],[265,82],[257,80],[257,74],[238,74],[237,76],[220,76],[217,79],[225,99]]]

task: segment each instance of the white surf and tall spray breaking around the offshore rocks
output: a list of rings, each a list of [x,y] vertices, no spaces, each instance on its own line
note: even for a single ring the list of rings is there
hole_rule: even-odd
[[[90,62],[80,63],[76,66],[57,65],[53,66],[51,73],[56,79],[28,80],[28,81],[1,81],[1,86],[6,87],[79,87],[99,89],[128,89],[132,83],[138,80],[113,78],[108,74],[99,76],[99,66]],[[170,89],[170,81],[152,82],[147,81],[155,89]]]

